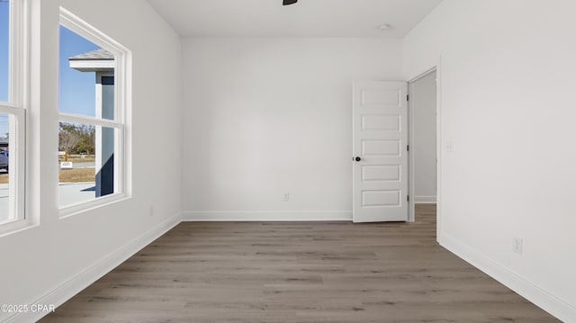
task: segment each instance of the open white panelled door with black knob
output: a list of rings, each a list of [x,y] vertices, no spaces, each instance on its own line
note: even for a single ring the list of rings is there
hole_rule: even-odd
[[[408,220],[408,97],[404,82],[355,82],[355,222]]]

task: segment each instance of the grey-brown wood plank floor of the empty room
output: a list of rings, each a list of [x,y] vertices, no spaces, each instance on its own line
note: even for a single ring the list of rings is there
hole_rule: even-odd
[[[415,223],[184,222],[41,322],[557,322]]]

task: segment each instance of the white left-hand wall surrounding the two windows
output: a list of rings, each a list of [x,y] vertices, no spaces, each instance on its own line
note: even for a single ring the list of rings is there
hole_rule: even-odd
[[[133,54],[132,198],[61,220],[54,164],[59,4]],[[34,0],[32,9],[26,214],[39,224],[0,238],[0,303],[58,305],[180,220],[181,44],[143,0]],[[0,313],[0,321],[8,317]],[[31,322],[38,316],[12,319]]]

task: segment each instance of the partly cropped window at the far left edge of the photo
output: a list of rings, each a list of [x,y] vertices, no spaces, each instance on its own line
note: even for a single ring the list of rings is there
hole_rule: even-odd
[[[24,4],[0,0],[0,234],[26,224]]]

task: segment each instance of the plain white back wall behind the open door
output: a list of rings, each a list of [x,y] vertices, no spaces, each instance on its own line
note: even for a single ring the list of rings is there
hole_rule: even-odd
[[[184,219],[350,220],[352,81],[401,64],[401,40],[184,40]]]

